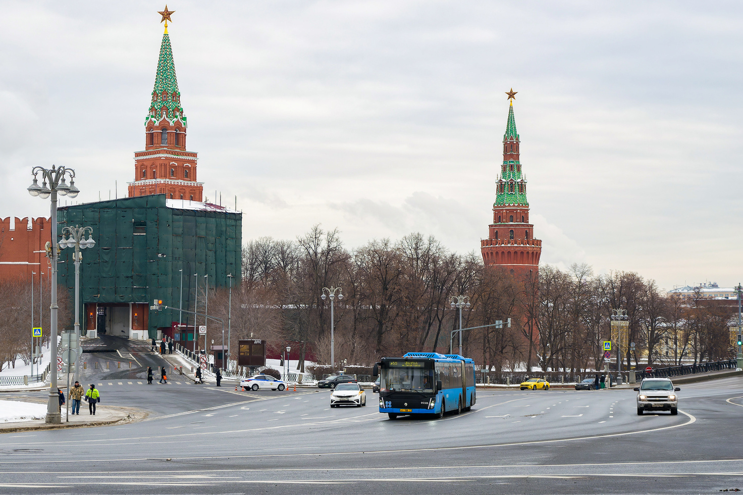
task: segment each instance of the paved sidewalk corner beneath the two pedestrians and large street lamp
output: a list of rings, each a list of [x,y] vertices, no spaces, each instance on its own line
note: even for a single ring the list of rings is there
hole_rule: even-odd
[[[36,402],[45,404],[42,400],[25,399],[25,402]],[[106,424],[124,424],[140,421],[148,416],[146,411],[137,410],[133,407],[120,406],[98,406],[95,416],[91,416],[88,411],[88,403],[83,402],[80,405],[80,415],[70,415],[70,421],[62,420],[61,424],[46,424],[43,419],[34,419],[32,421],[16,423],[0,423],[0,433],[13,433],[16,431],[32,430],[56,430],[60,428],[78,428],[103,426]]]

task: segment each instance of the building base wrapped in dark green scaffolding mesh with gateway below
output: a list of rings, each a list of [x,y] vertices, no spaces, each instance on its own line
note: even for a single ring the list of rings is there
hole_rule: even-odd
[[[80,326],[88,336],[145,339],[178,332],[179,341],[192,341],[193,316],[151,310],[153,301],[193,311],[205,281],[212,288],[227,286],[227,275],[241,280],[242,214],[224,206],[152,194],[64,206],[58,221],[60,239],[65,226],[93,228],[96,245],[82,251],[80,266]],[[71,300],[73,252],[60,253],[58,278]],[[179,318],[188,325],[183,332]]]

